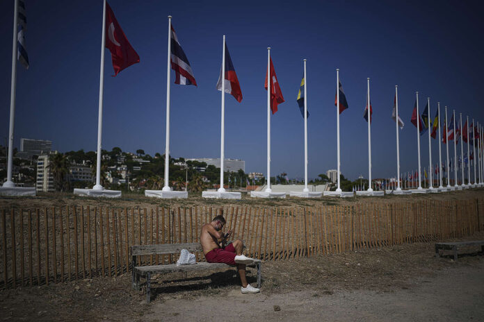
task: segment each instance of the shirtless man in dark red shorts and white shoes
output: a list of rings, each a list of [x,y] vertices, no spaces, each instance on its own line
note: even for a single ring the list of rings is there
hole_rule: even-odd
[[[246,293],[258,293],[260,289],[252,287],[248,284],[245,278],[245,265],[252,264],[254,260],[249,257],[245,257],[242,254],[243,242],[241,239],[236,239],[234,242],[225,246],[227,237],[232,235],[232,231],[229,230],[225,235],[222,232],[222,228],[225,226],[225,218],[220,214],[213,218],[210,223],[205,223],[202,226],[202,232],[200,233],[200,244],[202,244],[203,254],[209,263],[225,263],[233,266],[237,266],[239,276],[241,278],[241,292]],[[219,243],[218,239],[222,239]]]

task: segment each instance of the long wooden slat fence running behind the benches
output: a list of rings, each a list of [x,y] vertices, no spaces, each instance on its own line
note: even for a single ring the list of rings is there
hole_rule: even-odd
[[[0,289],[118,276],[135,244],[197,242],[223,213],[245,253],[287,260],[471,235],[484,230],[483,199],[365,202],[320,207],[90,207],[1,210]],[[204,260],[197,253],[197,260]],[[170,264],[175,255],[141,256]]]

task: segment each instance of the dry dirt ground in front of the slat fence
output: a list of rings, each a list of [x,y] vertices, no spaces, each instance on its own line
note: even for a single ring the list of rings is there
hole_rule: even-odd
[[[484,232],[460,240],[483,240]],[[451,239],[449,239],[451,240]],[[130,276],[0,291],[1,321],[483,321],[483,253],[434,257],[433,243],[373,248],[262,266],[260,294],[234,269],[163,276],[152,302]],[[255,282],[250,271],[249,282]]]

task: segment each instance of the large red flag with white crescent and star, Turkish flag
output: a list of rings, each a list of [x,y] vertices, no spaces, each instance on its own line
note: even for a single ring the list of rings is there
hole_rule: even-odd
[[[114,17],[113,10],[106,2],[106,48],[111,51],[113,58],[114,75],[118,75],[123,69],[140,62],[140,56],[134,51],[124,35],[118,20]]]

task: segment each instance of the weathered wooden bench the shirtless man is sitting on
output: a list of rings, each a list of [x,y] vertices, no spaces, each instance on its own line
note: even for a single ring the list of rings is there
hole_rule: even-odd
[[[152,266],[136,266],[136,256],[140,255],[167,255],[181,253],[182,249],[187,251],[201,252],[202,246],[199,243],[186,244],[162,244],[162,245],[141,245],[131,246],[131,286],[139,291],[140,278],[146,278],[146,301],[150,303],[151,300],[151,277],[152,274],[166,274],[173,272],[188,272],[188,271],[213,271],[214,269],[224,269],[229,266],[223,263],[207,263],[197,262],[193,265],[166,264],[166,265],[152,265]],[[257,268],[257,287],[261,287],[261,260],[254,260],[254,264],[249,267]]]

